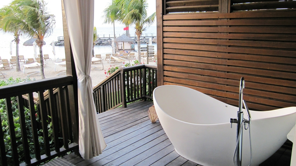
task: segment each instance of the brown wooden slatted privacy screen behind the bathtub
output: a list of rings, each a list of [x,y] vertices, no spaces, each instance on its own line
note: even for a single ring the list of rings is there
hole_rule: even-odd
[[[257,1],[220,0],[213,12],[194,4],[214,5],[210,0],[157,0],[158,84],[190,87],[238,105],[244,77],[250,109],[296,106],[296,10],[275,10],[294,8],[296,1]],[[171,10],[171,4],[182,10]]]

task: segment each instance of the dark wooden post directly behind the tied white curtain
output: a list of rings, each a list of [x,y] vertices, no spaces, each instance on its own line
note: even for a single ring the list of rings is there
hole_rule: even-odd
[[[65,44],[65,56],[66,56],[66,72],[67,75],[72,75],[73,85],[68,86],[69,90],[69,102],[70,102],[70,111],[71,111],[71,122],[72,122],[72,131],[73,131],[73,142],[78,144],[78,135],[79,135],[79,121],[78,121],[78,86],[77,86],[77,75],[75,69],[75,63],[73,58],[73,52],[70,43],[70,37],[67,27],[64,1],[62,1],[62,17],[63,17],[63,29],[64,29],[64,44]],[[79,152],[75,152],[79,155]]]

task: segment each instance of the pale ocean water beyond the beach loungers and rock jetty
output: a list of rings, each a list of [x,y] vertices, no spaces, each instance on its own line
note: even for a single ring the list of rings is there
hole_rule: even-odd
[[[105,36],[109,37],[113,36],[113,27],[96,27],[97,28],[97,33],[99,37]],[[115,36],[118,37],[119,35],[122,35],[126,31],[123,30],[124,26],[122,27],[115,27]],[[130,27],[130,34],[131,36],[134,36],[134,28]],[[143,36],[147,35],[156,35],[156,26],[151,26],[147,28],[143,32]],[[65,58],[65,47],[64,46],[55,46],[55,52],[56,55],[52,53],[52,46],[50,43],[52,41],[57,41],[57,38],[59,36],[63,36],[63,29],[54,29],[52,35],[50,35],[47,38],[44,38],[44,41],[46,42],[46,45],[42,47],[42,52],[43,54],[49,54],[49,57],[54,59],[54,58]],[[30,38],[26,36],[21,36],[20,37],[20,44],[19,44],[19,55],[23,55],[25,58],[33,58],[34,55],[34,50],[33,46],[24,46],[23,43],[26,40],[29,40]],[[2,59],[10,59],[11,56],[15,56],[16,52],[16,44],[15,42],[12,42],[12,55],[9,54],[10,48],[9,48],[9,42],[14,40],[14,36],[12,34],[8,33],[3,33],[0,32],[0,57]],[[156,48],[156,43],[153,43],[152,45],[155,46]],[[141,44],[141,47],[145,47],[146,44]],[[137,44],[135,44],[135,49],[137,50]],[[106,53],[112,53],[112,47],[111,45],[95,45],[94,47],[94,53],[95,54],[102,54],[105,55]],[[39,54],[39,48],[37,48],[37,54]]]

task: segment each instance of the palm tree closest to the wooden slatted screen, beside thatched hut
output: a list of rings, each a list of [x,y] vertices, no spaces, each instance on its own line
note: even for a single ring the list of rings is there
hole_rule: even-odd
[[[122,22],[124,24],[130,25],[131,23],[135,24],[136,35],[138,39],[138,61],[141,63],[141,42],[140,36],[144,30],[146,30],[147,26],[149,27],[155,20],[155,13],[147,17],[147,8],[148,3],[147,0],[125,0],[129,1],[128,5],[125,6],[124,17],[122,18]],[[125,4],[127,4],[125,2]],[[124,3],[124,2],[123,2]]]

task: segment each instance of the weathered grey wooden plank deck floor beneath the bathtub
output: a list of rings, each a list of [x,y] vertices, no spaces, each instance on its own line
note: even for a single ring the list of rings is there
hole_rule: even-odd
[[[127,108],[117,108],[98,114],[107,143],[103,154],[83,160],[74,153],[64,158],[76,166],[196,166],[178,155],[159,121],[151,123],[147,110],[151,102],[134,102]],[[291,150],[279,149],[260,166],[290,165]]]

